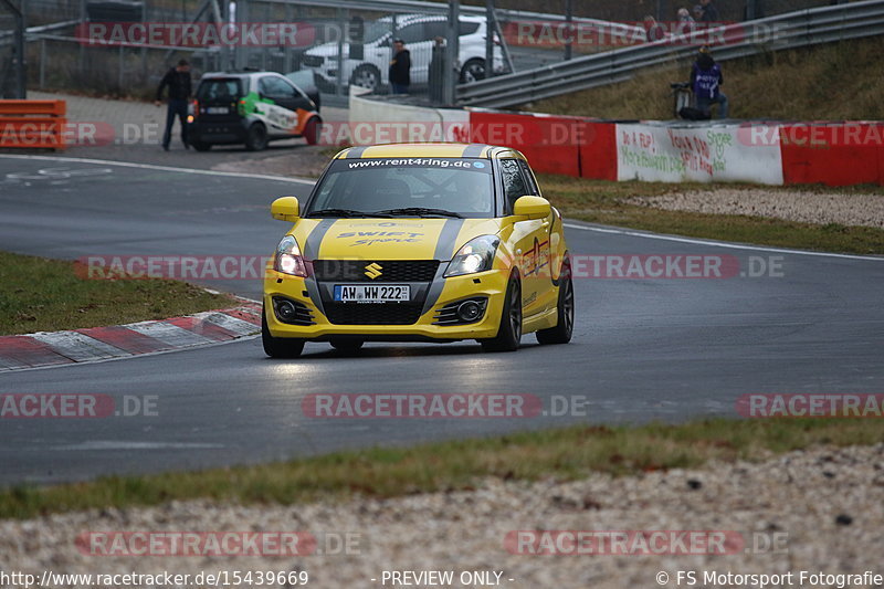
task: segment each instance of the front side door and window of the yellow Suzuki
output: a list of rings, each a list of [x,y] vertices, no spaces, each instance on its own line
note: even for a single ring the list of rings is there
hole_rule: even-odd
[[[507,214],[513,214],[516,200],[537,192],[530,175],[525,175],[518,159],[499,160],[501,182]],[[549,219],[516,221],[511,238],[522,275],[522,302],[526,316],[548,308]]]

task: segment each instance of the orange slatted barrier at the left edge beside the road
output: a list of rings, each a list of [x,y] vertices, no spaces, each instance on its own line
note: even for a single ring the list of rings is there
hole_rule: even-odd
[[[0,101],[0,148],[65,148],[64,101]]]

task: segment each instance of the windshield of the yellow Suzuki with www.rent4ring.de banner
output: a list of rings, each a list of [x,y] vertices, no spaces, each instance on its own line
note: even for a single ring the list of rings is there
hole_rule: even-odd
[[[494,217],[491,162],[469,158],[335,160],[306,217]]]

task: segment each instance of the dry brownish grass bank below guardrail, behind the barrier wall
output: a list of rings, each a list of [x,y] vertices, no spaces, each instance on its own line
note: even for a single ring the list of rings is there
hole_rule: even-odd
[[[734,118],[881,119],[884,36],[843,41],[724,62]],[[520,109],[601,118],[673,118],[670,83],[687,81],[691,63],[620,84],[525,105]]]

